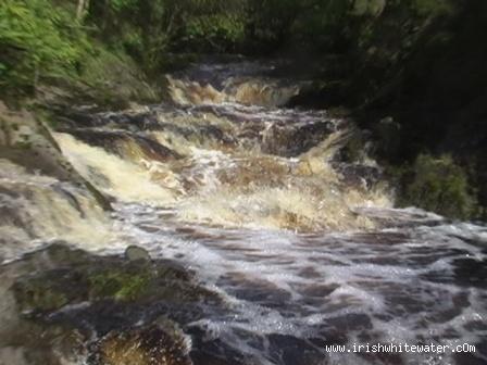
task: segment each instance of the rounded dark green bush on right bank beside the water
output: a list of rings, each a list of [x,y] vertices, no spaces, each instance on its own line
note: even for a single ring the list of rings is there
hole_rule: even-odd
[[[417,156],[413,178],[405,186],[403,204],[412,204],[452,218],[470,218],[476,213],[469,179],[462,167],[444,155]]]

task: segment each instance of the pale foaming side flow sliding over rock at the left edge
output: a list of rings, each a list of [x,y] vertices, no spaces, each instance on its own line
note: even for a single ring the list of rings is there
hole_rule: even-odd
[[[111,221],[83,189],[32,175],[0,160],[0,256],[8,261],[49,242],[65,240],[96,250],[115,238]]]

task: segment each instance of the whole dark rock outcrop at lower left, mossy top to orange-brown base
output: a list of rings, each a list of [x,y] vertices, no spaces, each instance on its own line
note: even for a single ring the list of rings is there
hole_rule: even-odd
[[[191,364],[179,325],[161,316],[199,320],[218,297],[177,264],[127,251],[95,256],[57,243],[0,266],[0,364]]]

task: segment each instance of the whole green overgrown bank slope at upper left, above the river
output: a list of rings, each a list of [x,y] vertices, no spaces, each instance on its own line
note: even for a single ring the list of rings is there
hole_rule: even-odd
[[[121,22],[139,2],[107,1],[108,13],[90,24],[76,20],[75,1],[1,2],[0,93],[10,98],[32,96],[37,85],[54,84],[107,106],[126,106],[130,100],[155,101],[158,97],[145,83],[145,75],[125,54],[130,48],[142,52],[145,47],[141,29]],[[104,2],[92,3],[96,10]],[[122,27],[124,37],[113,42],[110,37],[96,39],[97,28],[109,21]]]

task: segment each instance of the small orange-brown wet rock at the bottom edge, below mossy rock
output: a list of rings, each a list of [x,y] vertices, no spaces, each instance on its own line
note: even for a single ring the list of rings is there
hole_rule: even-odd
[[[97,343],[93,365],[190,365],[185,339],[158,326],[113,331]]]

